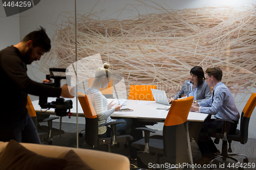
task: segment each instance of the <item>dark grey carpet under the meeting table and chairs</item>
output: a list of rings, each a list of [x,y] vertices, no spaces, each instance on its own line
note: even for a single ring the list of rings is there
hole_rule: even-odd
[[[59,123],[53,123],[53,127],[59,128]],[[84,129],[84,125],[78,125],[78,131]],[[67,123],[62,123],[62,130],[65,131],[65,134],[62,134],[61,137],[59,138],[58,136],[54,136],[53,143],[52,145],[59,145],[59,146],[64,146],[64,147],[72,147],[76,148],[76,125],[75,124],[67,124]],[[162,131],[157,131],[156,135],[161,135]],[[222,147],[222,141],[220,140],[219,144],[217,145],[217,149],[221,151]],[[248,142],[246,144],[241,144],[240,142],[232,142],[231,143],[231,149],[232,153],[241,153],[244,154],[248,157],[249,163],[252,165],[252,163],[255,165],[256,163],[256,139],[248,139]],[[97,148],[92,148],[89,145],[87,145],[84,142],[84,132],[83,132],[83,137],[78,137],[78,147],[83,148],[83,149],[94,149],[94,150],[100,150],[100,151],[106,151],[106,148],[103,146],[99,146]],[[196,144],[196,142],[193,140],[191,142],[191,150],[193,153],[193,160],[198,160],[201,158],[201,153],[199,151],[199,148]],[[129,149],[124,148],[124,145],[121,143],[120,148],[114,148],[112,149],[113,153],[121,154],[124,156],[127,156],[130,158],[129,154]],[[148,163],[153,163],[157,161],[157,155],[150,155],[148,153],[138,153],[138,156],[141,158],[143,163],[148,164]],[[243,157],[237,156],[237,159],[239,161],[243,162]],[[220,161],[219,161],[220,160]],[[225,168],[220,168],[220,165],[225,165],[227,166],[228,164],[231,166],[233,161],[223,161],[222,159],[219,159],[218,161],[215,162],[216,167],[211,168],[211,169],[238,169],[236,167],[225,167]],[[172,160],[169,159],[164,159],[164,163],[173,163]],[[234,164],[233,164],[234,165]],[[190,168],[184,168],[184,169],[190,169]],[[195,169],[210,169],[210,168],[195,168]],[[244,168],[244,169],[256,169],[256,168]]]

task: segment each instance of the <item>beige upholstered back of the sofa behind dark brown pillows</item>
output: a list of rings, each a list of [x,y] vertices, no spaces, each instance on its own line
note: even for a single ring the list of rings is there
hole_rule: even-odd
[[[8,142],[0,141],[0,157],[1,151],[4,150],[7,144]],[[86,162],[95,170],[127,170],[130,168],[129,159],[126,156],[119,154],[89,149],[60,147],[56,145],[42,145],[33,143],[19,144],[23,145],[23,147],[36,154],[52,158],[63,158],[72,149],[82,159],[83,162]]]

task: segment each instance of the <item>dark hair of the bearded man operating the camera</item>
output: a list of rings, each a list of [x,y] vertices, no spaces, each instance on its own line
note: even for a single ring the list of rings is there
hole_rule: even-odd
[[[33,47],[42,47],[46,52],[51,49],[51,40],[46,34],[46,30],[40,26],[41,29],[33,31],[23,38],[23,42],[28,42],[31,40],[33,42]]]

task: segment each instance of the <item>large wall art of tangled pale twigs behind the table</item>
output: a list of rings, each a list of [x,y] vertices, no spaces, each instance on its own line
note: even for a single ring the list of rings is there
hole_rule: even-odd
[[[170,97],[189,80],[189,70],[196,65],[204,70],[219,66],[222,82],[234,94],[256,87],[256,8],[161,8],[132,19],[93,18],[77,15],[78,59],[100,53],[103,62],[123,74],[127,90],[132,84],[157,85]],[[41,70],[67,68],[75,62],[74,17],[57,28]]]

